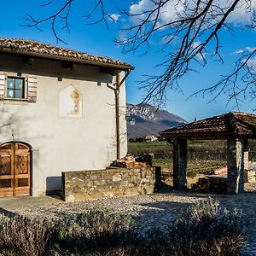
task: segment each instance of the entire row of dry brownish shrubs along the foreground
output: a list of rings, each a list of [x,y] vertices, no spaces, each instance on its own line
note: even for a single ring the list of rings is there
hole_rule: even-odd
[[[147,229],[111,210],[63,214],[59,220],[0,217],[4,256],[236,255],[244,243],[241,212],[200,201],[166,230]],[[207,254],[206,254],[207,253]]]

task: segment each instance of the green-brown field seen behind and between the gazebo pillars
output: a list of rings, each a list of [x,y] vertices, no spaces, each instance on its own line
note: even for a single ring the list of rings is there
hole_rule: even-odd
[[[172,172],[172,144],[162,142],[128,143],[131,154],[152,154],[154,166],[161,166],[162,171]],[[249,158],[256,160],[256,140],[249,140]],[[225,141],[189,141],[188,172],[190,177],[197,173],[211,172],[226,166]]]

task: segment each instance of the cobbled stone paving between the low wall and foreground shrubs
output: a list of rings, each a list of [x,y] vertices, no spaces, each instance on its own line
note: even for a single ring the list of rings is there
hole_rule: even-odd
[[[221,207],[242,210],[249,220],[246,231],[247,245],[240,255],[256,255],[256,183],[246,184],[247,192],[241,195],[210,195],[220,201]],[[115,199],[102,199],[65,203],[59,199],[44,196],[38,198],[19,197],[0,199],[0,212],[13,216],[47,216],[57,218],[60,213],[86,212],[90,208],[112,208],[133,215],[142,221],[145,228],[152,226],[164,227],[173,218],[177,218],[183,208],[189,207],[195,201],[206,200],[209,195],[172,193],[137,195]]]

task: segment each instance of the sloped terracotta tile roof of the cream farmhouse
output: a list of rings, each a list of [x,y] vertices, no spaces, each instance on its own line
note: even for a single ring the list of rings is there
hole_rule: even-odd
[[[0,52],[74,61],[102,67],[116,67],[121,70],[134,69],[126,62],[26,39],[0,38]]]

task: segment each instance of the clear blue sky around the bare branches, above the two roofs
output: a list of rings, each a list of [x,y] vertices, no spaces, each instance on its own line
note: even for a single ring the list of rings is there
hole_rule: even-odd
[[[71,32],[61,31],[61,38],[67,42],[65,44],[59,44],[70,49],[79,49],[91,54],[107,55],[109,57],[117,58],[121,61],[128,61],[136,69],[131,73],[126,82],[126,96],[127,102],[137,104],[143,99],[144,91],[138,90],[137,81],[143,80],[143,75],[159,73],[160,68],[154,68],[154,66],[164,60],[165,54],[158,52],[160,46],[160,38],[157,38],[152,42],[151,48],[147,55],[140,56],[139,54],[123,54],[122,49],[113,43],[113,38],[118,36],[119,24],[109,22],[109,30],[104,26],[87,26],[86,21],[80,16],[87,13],[87,9],[90,9],[88,3],[92,1],[76,0],[76,5],[73,6],[71,12]],[[60,2],[63,2],[62,0]],[[108,1],[108,13],[116,14],[118,9],[128,7],[130,1],[119,0]],[[42,1],[31,0],[15,0],[10,2],[4,1],[2,3],[2,10],[4,12],[0,15],[0,37],[6,38],[27,38],[37,41],[41,41],[48,44],[56,44],[55,37],[50,30],[49,24],[40,26],[43,32],[38,31],[35,28],[20,26],[26,24],[26,21],[22,19],[23,16],[28,14],[34,15],[34,17],[44,18],[44,15],[50,14],[52,9],[47,7],[40,8],[38,5],[45,3]],[[87,5],[85,6],[84,3]],[[106,2],[107,3],[107,2]],[[126,6],[125,6],[126,4]],[[122,21],[125,22],[124,20]],[[207,67],[197,67],[198,73],[189,73],[181,81],[180,85],[183,89],[183,93],[177,93],[175,91],[168,92],[169,101],[166,103],[166,109],[172,113],[177,113],[188,121],[197,119],[203,119],[212,115],[226,113],[234,111],[234,103],[227,103],[226,96],[220,96],[217,102],[210,102],[212,96],[191,97],[186,100],[193,92],[202,88],[207,88],[218,82],[219,76],[229,73],[234,67],[234,61],[236,60],[236,50],[245,49],[246,47],[256,47],[256,31],[244,31],[236,32],[234,35],[230,35],[227,32],[222,32],[221,41],[221,53],[224,56],[224,65],[220,65],[218,61],[209,61]],[[253,112],[253,108],[256,108],[256,102],[252,102],[249,98],[241,104],[241,111]]]

